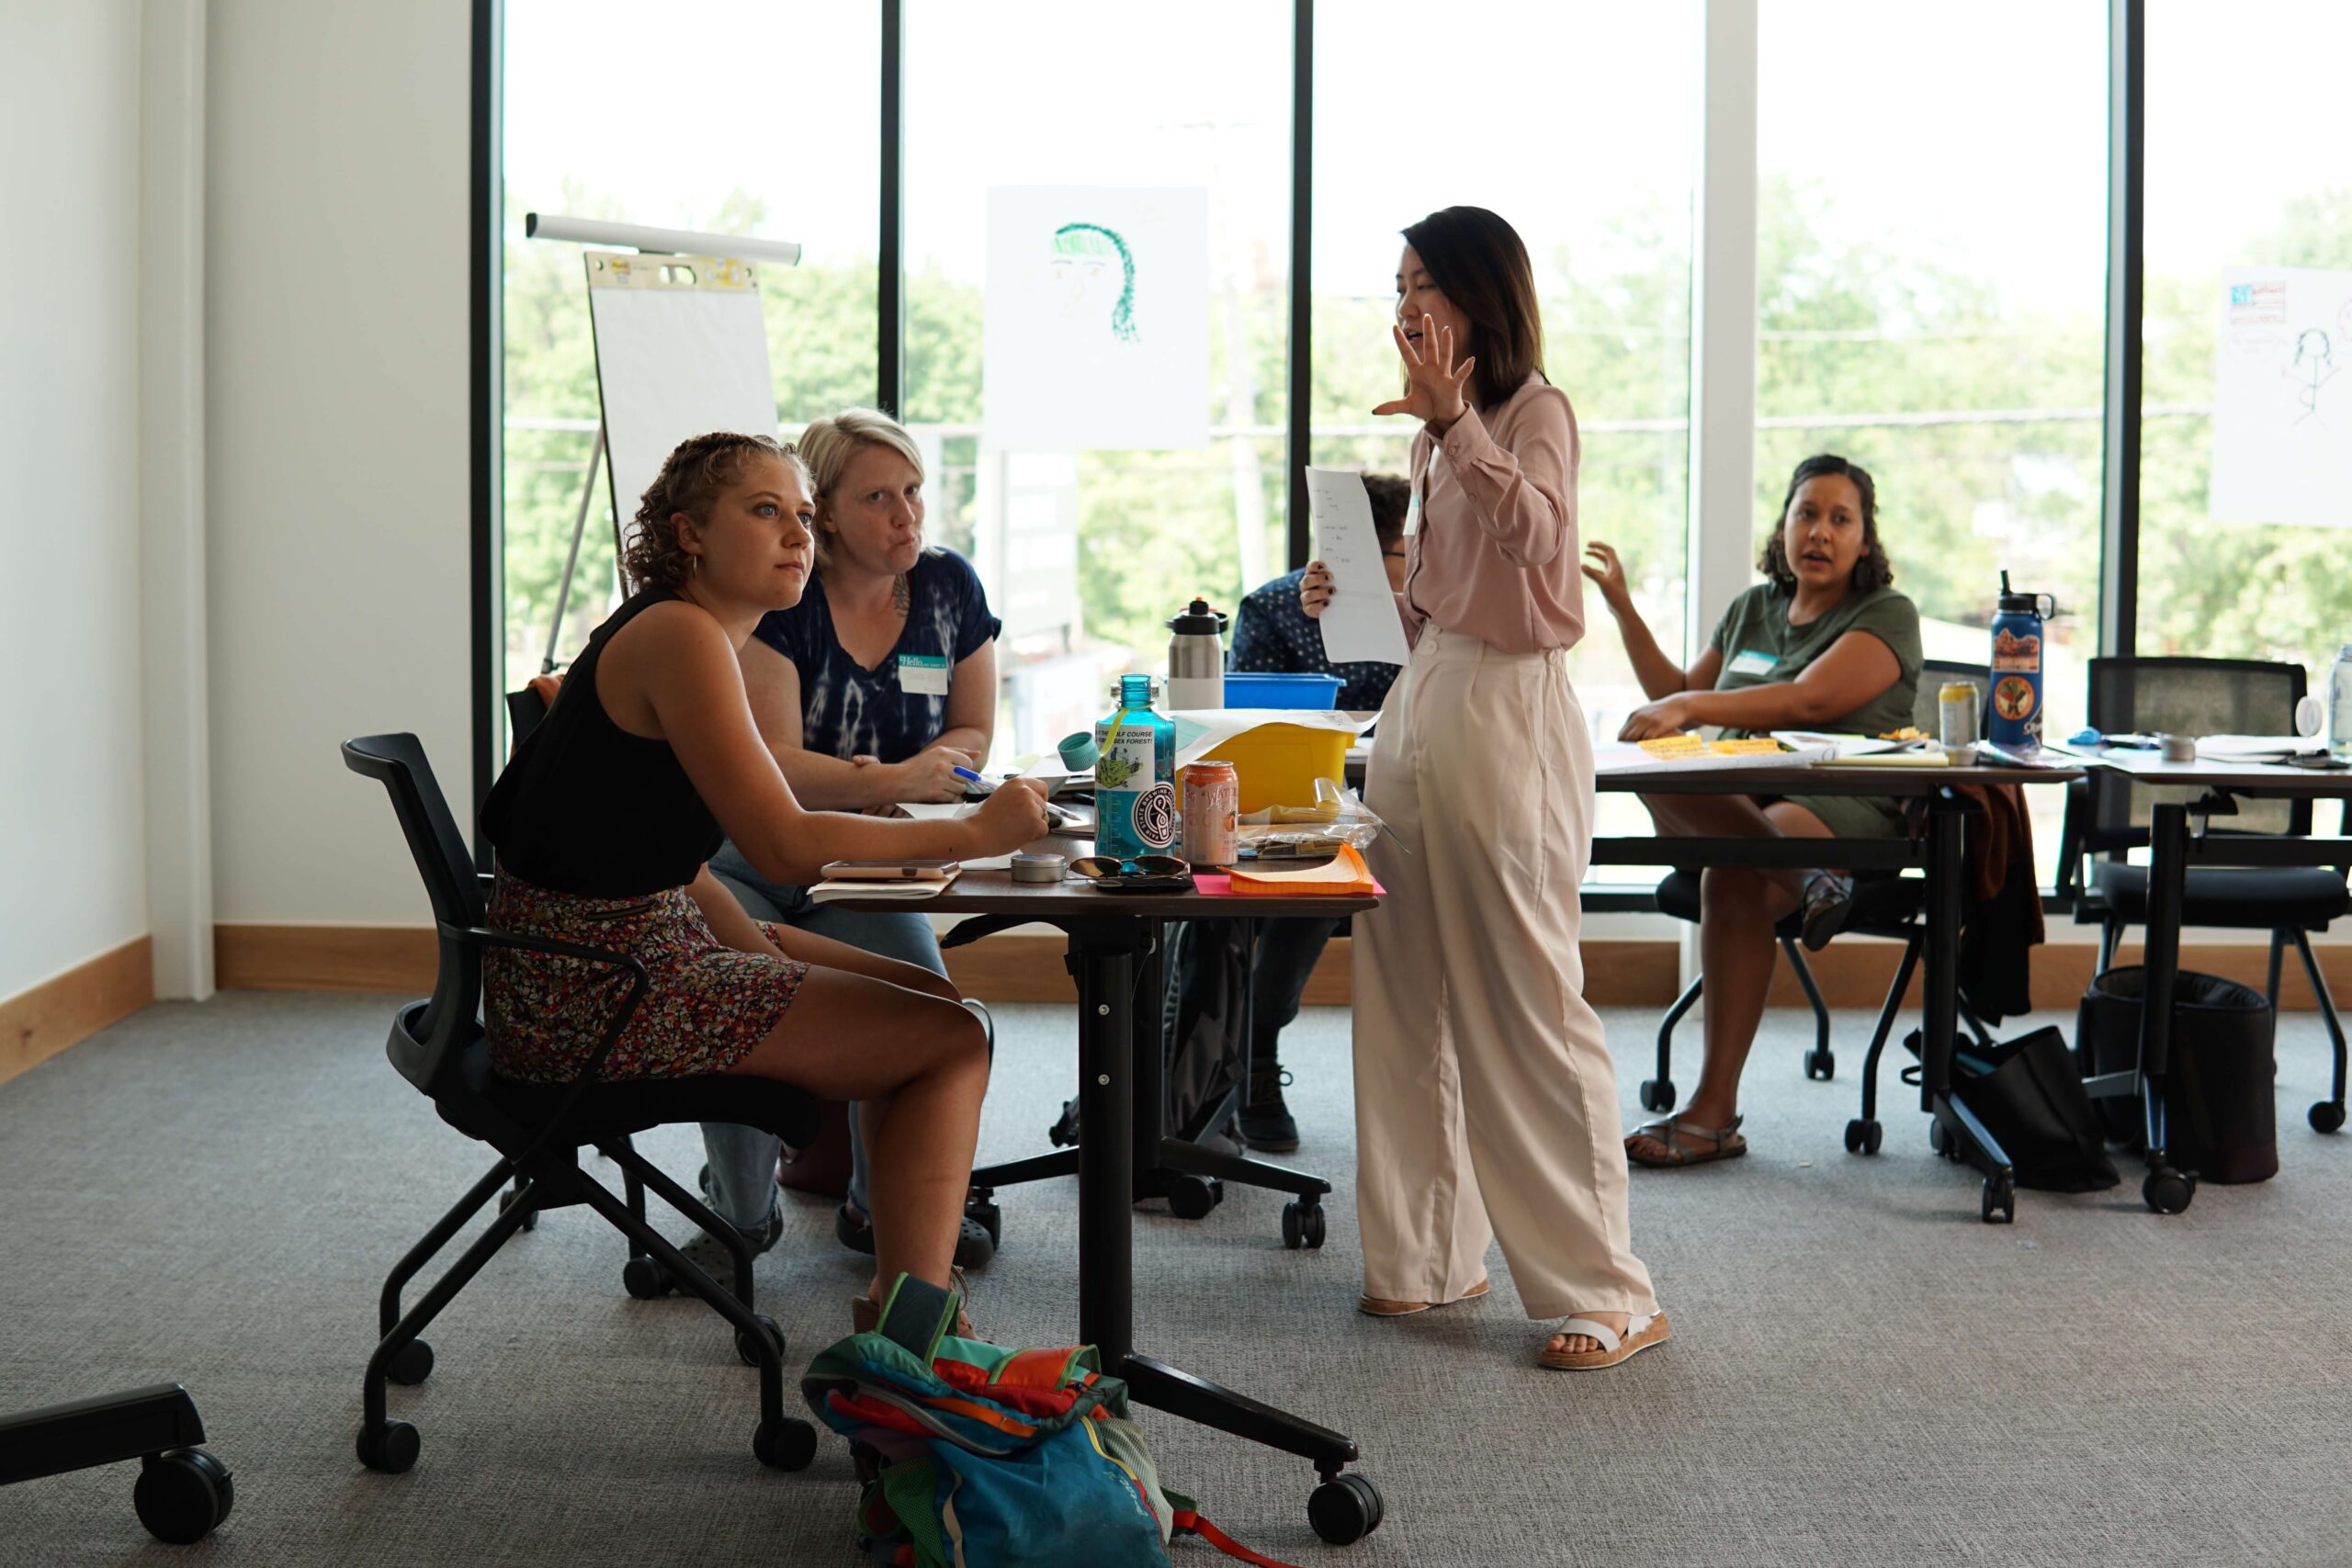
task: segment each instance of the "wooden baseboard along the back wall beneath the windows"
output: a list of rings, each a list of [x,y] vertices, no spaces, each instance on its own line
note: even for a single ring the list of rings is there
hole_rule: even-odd
[[[1070,971],[1063,969],[1065,950],[1061,936],[1004,931],[969,947],[950,947],[946,952],[948,976],[967,997],[981,1001],[1075,1001],[1077,987]],[[2138,964],[2138,952],[2136,945],[2126,945],[2117,961]],[[2328,945],[2314,952],[2328,990],[2352,1004],[2352,947]],[[1663,1009],[1679,990],[1679,959],[1672,940],[1592,940],[1583,945],[1583,954],[1585,999],[1595,1006]],[[108,954],[108,961],[113,957],[118,954]],[[1849,938],[1809,954],[1806,964],[1811,964],[1813,980],[1830,1006],[1877,1009],[1896,978],[1898,959],[1900,947],[1893,943]],[[423,926],[214,926],[214,966],[223,987],[416,997],[433,990],[433,931]],[[2032,964],[2034,1006],[2070,1009],[2091,983],[2098,947],[2058,940],[2037,947]],[[2180,952],[2183,969],[2253,987],[2263,985],[2267,964],[2267,950],[2253,945],[2194,943]],[[1305,1001],[1310,1006],[1348,1006],[1350,983],[1350,940],[1336,938],[1324,947],[1324,957],[1308,980]],[[2303,980],[2303,966],[2293,959],[2288,959],[2288,978],[2279,992],[2279,1006],[2286,1011],[2317,1006]],[[1917,1001],[1919,980],[1912,978],[1905,1004],[1917,1006]],[[1804,992],[1788,964],[1780,964],[1773,976],[1771,1006],[1804,1006]]]

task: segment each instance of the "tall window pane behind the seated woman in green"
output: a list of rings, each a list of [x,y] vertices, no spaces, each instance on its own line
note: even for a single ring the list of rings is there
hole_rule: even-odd
[[[2009,571],[2058,602],[2046,724],[2079,729],[2098,646],[2105,7],[1987,0],[1955,26],[1945,7],[1766,0],[1757,103],[1752,543],[1799,458],[1863,463],[1926,656],[1985,663]],[[2027,792],[2044,877],[2058,797]]]

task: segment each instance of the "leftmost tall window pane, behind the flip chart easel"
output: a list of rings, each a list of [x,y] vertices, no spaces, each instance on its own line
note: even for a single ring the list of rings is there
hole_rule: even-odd
[[[722,0],[694,26],[506,2],[506,684],[548,654],[597,428],[583,247],[524,240],[524,214],[800,240],[762,268],[779,418],[873,402],[880,38],[875,0]],[[612,607],[612,555],[597,477],[557,663]]]

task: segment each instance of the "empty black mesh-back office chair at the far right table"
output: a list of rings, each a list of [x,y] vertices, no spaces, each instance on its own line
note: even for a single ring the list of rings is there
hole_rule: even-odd
[[[2296,729],[2303,701],[2303,665],[2258,658],[2093,658],[2091,729],[2119,733],[2180,736],[2279,736]],[[2352,806],[2347,806],[2352,830]],[[2230,816],[2232,835],[2310,835],[2312,802],[2246,799]],[[2060,837],[2058,886],[2077,891],[2074,924],[2098,924],[2098,966],[2114,961],[2126,926],[2147,924],[2147,867],[2129,865],[2126,851],[2147,844],[2147,795],[2129,778],[2093,771],[2067,785]],[[2084,856],[2098,856],[2084,877]],[[2183,926],[2270,931],[2270,1004],[2279,1006],[2279,961],[2293,943],[2310,976],[2319,1016],[2336,1051],[2336,1088],[2310,1110],[2321,1133],[2345,1124],[2345,1027],[2336,1016],[2312,931],[2326,931],[2352,907],[2345,867],[2220,867],[2192,865],[2180,903]]]

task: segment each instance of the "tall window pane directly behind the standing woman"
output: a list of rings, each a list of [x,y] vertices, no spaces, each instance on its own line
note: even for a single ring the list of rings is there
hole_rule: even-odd
[[[1449,38],[1508,38],[1512,80],[1461,73],[1461,132],[1409,110],[1428,7],[1364,0],[1315,40],[1317,463],[1404,473],[1414,421],[1374,418],[1399,390],[1395,273],[1402,230],[1437,207],[1489,207],[1526,242],[1543,306],[1545,371],[1576,407],[1583,538],[1613,543],[1644,618],[1682,646],[1691,451],[1691,176],[1698,7],[1470,0]],[[1529,68],[1529,61],[1541,66]],[[1524,75],[1522,75],[1524,71]],[[1468,108],[1475,103],[1475,108]],[[1602,738],[1642,686],[1599,595],[1585,597],[1576,691]],[[1599,832],[1649,832],[1604,795]],[[1628,879],[1625,867],[1597,877]]]

